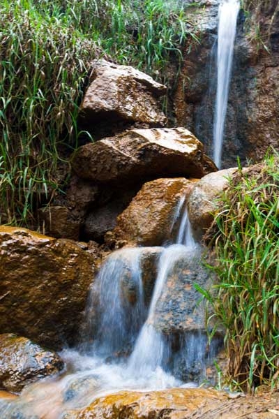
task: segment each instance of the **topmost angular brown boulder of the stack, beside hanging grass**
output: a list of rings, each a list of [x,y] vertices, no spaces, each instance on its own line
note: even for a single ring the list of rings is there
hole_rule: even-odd
[[[82,101],[86,124],[104,119],[142,122],[163,126],[166,117],[158,97],[167,87],[130,66],[119,66],[104,59],[93,61],[91,84]]]

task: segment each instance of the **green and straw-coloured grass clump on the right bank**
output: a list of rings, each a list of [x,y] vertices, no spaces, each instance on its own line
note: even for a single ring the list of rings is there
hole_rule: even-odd
[[[227,378],[248,391],[279,383],[278,163],[239,170],[209,232],[218,285],[208,298],[226,330]]]

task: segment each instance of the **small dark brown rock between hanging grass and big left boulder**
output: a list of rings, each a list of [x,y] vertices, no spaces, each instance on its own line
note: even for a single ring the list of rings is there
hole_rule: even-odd
[[[47,207],[39,210],[43,230],[56,238],[79,240],[80,223],[71,219],[67,207]]]

